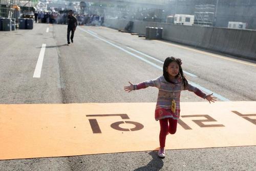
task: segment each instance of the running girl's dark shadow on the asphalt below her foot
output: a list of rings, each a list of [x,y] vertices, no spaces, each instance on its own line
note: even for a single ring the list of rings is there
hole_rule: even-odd
[[[148,153],[152,156],[152,160],[143,167],[136,168],[134,171],[160,170],[163,167],[163,160],[158,157],[158,151]]]

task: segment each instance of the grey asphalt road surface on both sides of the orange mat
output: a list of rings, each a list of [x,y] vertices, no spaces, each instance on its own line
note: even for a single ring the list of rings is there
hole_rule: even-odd
[[[127,93],[123,87],[161,76],[168,56],[181,58],[187,79],[219,95],[219,101],[256,101],[255,61],[105,27],[79,26],[70,46],[66,25],[35,23],[33,30],[0,37],[0,104],[156,102],[156,88]],[[33,78],[42,44],[41,75]],[[181,93],[181,102],[203,101]],[[169,150],[165,159],[147,151],[0,161],[0,170],[255,169],[256,146]]]

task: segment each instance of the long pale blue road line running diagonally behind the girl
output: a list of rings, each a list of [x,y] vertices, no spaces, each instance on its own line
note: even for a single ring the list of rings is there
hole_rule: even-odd
[[[118,45],[116,45],[116,44],[114,44],[114,43],[111,43],[111,42],[108,41],[108,40],[102,39],[102,38],[100,38],[99,36],[96,36],[96,35],[94,35],[94,34],[88,32],[88,31],[86,31],[86,30],[83,30],[83,29],[79,28],[79,27],[78,27],[78,29],[80,29],[81,31],[86,32],[86,33],[88,33],[88,34],[90,34],[90,35],[92,35],[92,36],[94,36],[94,37],[96,37],[96,38],[98,38],[98,39],[100,39],[100,40],[106,42],[106,43],[109,43],[109,44],[113,45],[114,47],[119,48],[119,50],[121,50],[121,51],[123,51],[123,52],[126,52],[127,54],[130,54],[130,55],[132,55],[132,56],[134,56],[134,57],[136,57],[136,58],[138,58],[138,59],[140,59],[140,60],[142,60],[142,61],[144,61],[144,62],[146,62],[146,63],[148,63],[148,64],[150,64],[150,65],[152,65],[152,66],[155,66],[156,68],[158,68],[158,69],[160,69],[160,70],[163,69],[161,66],[158,66],[158,65],[156,65],[155,63],[153,63],[153,62],[151,62],[151,61],[148,61],[148,60],[146,60],[146,59],[144,59],[144,58],[142,58],[142,57],[140,57],[140,56],[138,56],[138,55],[136,55],[136,54],[134,54],[134,53],[131,53],[131,52],[125,50],[124,48],[122,48],[122,47],[120,47],[120,46],[118,46]],[[196,84],[196,83],[193,83],[193,82],[190,82],[190,81],[189,81],[189,83],[191,83],[191,85],[192,85],[192,84],[197,85],[198,88],[199,88],[199,87],[202,88],[202,90],[204,90],[205,92],[214,93],[214,95],[215,95],[216,97],[218,96],[218,99],[220,99],[221,101],[229,101],[228,99],[226,99],[226,98],[223,97],[222,95],[217,94],[217,93],[215,93],[215,92],[212,92],[212,91],[208,90],[207,88],[204,88],[204,87],[202,87],[202,86],[199,86],[199,85]]]

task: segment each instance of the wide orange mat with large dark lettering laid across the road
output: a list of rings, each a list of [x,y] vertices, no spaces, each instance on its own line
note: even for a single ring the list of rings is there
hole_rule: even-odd
[[[0,160],[152,151],[155,103],[0,105]],[[166,149],[256,145],[256,102],[181,103]]]

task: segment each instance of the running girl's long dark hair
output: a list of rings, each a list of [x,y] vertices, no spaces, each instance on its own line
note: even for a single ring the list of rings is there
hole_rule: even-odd
[[[169,77],[168,77],[169,75],[168,75],[168,72],[166,71],[167,67],[172,62],[177,62],[177,64],[179,65],[179,74],[177,76],[175,76],[175,78],[181,77],[181,79],[183,80],[183,83],[184,83],[184,87],[185,87],[188,83],[187,83],[187,79],[183,75],[183,70],[182,70],[182,67],[181,67],[182,62],[181,62],[180,58],[167,57],[164,60],[164,63],[163,63],[163,77],[165,78],[165,80],[167,82],[176,84],[176,83],[169,80]]]

